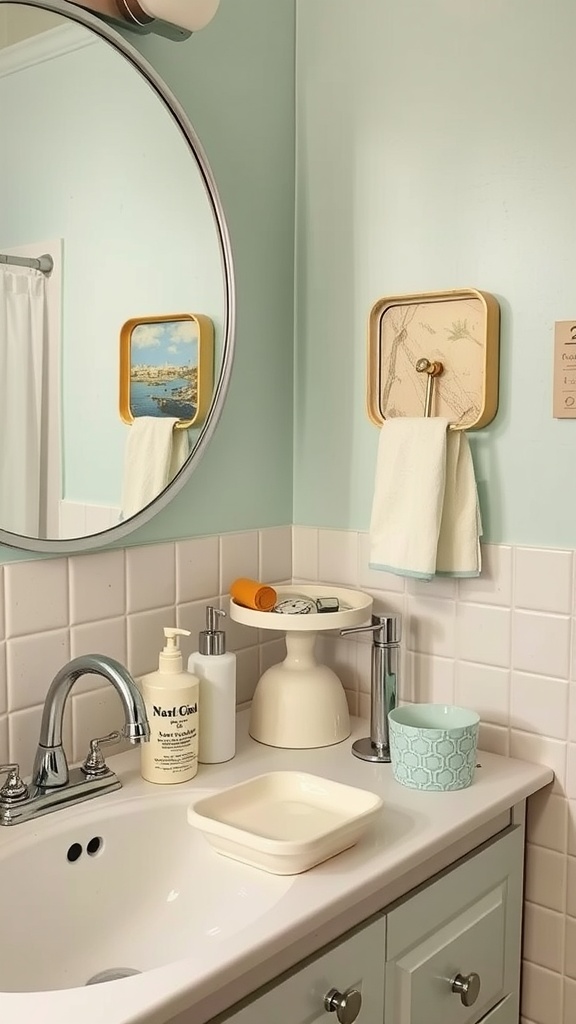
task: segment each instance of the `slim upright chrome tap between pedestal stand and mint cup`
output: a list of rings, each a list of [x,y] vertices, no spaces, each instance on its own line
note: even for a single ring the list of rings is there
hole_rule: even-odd
[[[398,701],[400,668],[400,615],[372,615],[370,626],[340,630],[348,633],[372,633],[372,679],[370,697],[370,735],[357,739],[352,752],[363,761],[389,761],[388,712]]]

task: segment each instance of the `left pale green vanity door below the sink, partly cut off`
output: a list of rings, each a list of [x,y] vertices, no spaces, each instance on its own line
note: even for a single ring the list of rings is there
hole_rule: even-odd
[[[357,1024],[382,1024],[384,1017],[384,919],[296,967],[284,981],[225,1018],[227,1024],[337,1024],[324,1007],[331,989],[359,989],[362,1006]]]

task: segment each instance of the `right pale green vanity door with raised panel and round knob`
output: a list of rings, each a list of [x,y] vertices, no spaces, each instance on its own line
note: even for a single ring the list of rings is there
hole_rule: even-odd
[[[386,1020],[476,1024],[518,991],[522,864],[515,828],[390,910]],[[472,974],[480,990],[465,1006],[452,982]]]

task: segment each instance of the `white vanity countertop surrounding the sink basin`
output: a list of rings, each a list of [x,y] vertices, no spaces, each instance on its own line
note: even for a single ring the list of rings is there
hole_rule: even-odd
[[[295,877],[286,896],[249,928],[213,946],[204,942],[201,965],[196,957],[184,958],[88,988],[0,992],[0,1020],[4,1024],[33,1020],[42,1024],[166,1024],[194,1007],[195,1024],[202,1024],[313,948],[408,892],[438,869],[439,857],[444,856],[447,863],[456,859],[464,852],[462,844],[467,841],[469,847],[470,834],[478,833],[480,843],[486,838],[483,827],[553,778],[548,768],[479,752],[482,767],[469,788],[447,794],[408,790],[395,782],[389,765],[373,765],[352,755],[353,739],[367,733],[365,722],[353,720],[353,735],[334,746],[280,750],[248,736],[248,712],[243,712],[238,716],[236,758],[222,765],[200,766],[192,782],[166,788],[190,791],[192,800],[198,790],[223,788],[268,771],[299,770],[370,790],[381,797],[384,806],[377,823],[356,847]],[[162,800],[161,787],[140,778],[137,751],[110,758],[109,763],[123,788],[97,802],[118,803],[151,794]],[[72,818],[74,810],[56,813]],[[14,834],[24,836],[27,827],[1,828],[0,851],[4,843],[13,841]],[[38,821],[36,828],[41,828]],[[213,856],[219,855],[214,852]],[[89,927],[87,922],[88,937]],[[27,956],[26,949],[22,955]]]

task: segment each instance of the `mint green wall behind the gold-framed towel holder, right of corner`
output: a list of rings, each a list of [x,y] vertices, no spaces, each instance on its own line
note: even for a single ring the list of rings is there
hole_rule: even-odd
[[[368,313],[458,287],[502,311],[500,411],[471,435],[485,535],[572,547],[576,422],[551,417],[576,316],[574,0],[296,0],[294,518],[366,529]]]

